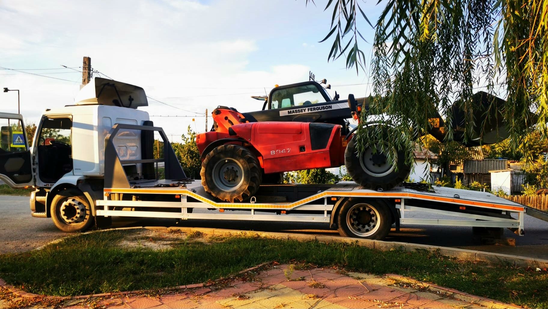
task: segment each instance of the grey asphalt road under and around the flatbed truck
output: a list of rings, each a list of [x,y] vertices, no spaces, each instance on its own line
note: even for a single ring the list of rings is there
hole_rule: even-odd
[[[433,218],[429,214],[420,212],[417,212],[414,216]],[[329,230],[325,223],[185,220],[181,221],[179,225],[338,235],[338,232]],[[176,224],[172,219],[114,218],[113,220],[113,227],[130,226],[176,226]],[[407,226],[402,227],[400,232],[395,232],[395,229],[392,229],[386,240],[548,259],[548,222],[526,216],[525,232],[525,236],[520,237],[509,230],[505,230],[505,237],[515,238],[516,246],[475,245],[470,227]],[[50,218],[31,217],[27,196],[0,195],[0,253],[30,250],[66,235],[68,234],[60,232],[54,226]]]

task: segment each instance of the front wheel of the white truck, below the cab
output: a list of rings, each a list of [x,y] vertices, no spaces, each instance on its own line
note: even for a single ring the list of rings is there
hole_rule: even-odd
[[[93,225],[92,209],[85,196],[76,189],[65,189],[52,200],[53,223],[63,232],[83,232]]]

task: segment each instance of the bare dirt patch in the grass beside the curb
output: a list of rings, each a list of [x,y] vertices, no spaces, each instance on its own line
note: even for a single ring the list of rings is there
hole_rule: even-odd
[[[152,250],[172,249],[188,243],[210,243],[207,235],[200,232],[185,233],[179,229],[140,229],[128,233],[117,246]]]

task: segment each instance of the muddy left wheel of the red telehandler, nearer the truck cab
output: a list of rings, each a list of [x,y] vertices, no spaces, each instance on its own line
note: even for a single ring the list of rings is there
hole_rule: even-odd
[[[262,180],[259,160],[246,147],[220,145],[202,162],[202,186],[216,198],[234,203],[255,194]]]

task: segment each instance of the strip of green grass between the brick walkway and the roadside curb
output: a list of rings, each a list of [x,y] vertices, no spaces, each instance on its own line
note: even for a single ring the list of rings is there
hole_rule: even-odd
[[[0,277],[26,291],[81,295],[207,282],[262,262],[306,261],[348,271],[397,273],[492,299],[548,307],[548,272],[462,262],[427,252],[375,251],[317,241],[226,237],[187,240],[173,249],[119,248],[132,231],[79,235],[40,251],[0,255]],[[146,240],[143,240],[146,241]]]

